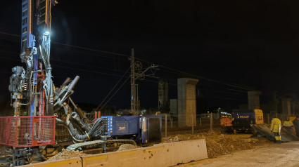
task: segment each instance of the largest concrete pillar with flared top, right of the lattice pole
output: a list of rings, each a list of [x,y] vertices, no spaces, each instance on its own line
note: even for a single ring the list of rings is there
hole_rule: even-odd
[[[196,126],[196,83],[198,79],[177,79],[177,111],[179,127]]]

